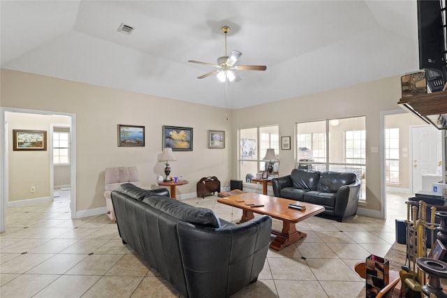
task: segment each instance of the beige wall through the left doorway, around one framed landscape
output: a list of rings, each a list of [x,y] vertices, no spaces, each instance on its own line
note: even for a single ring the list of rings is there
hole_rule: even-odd
[[[3,89],[3,88],[2,88]],[[4,98],[2,98],[3,103]],[[6,112],[8,123],[9,200],[50,197],[50,124],[69,124],[68,117]],[[47,132],[46,151],[13,151],[13,130]],[[31,193],[31,186],[36,188]]]

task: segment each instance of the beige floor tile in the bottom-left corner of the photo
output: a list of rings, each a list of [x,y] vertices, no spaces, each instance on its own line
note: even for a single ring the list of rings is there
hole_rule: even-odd
[[[32,297],[58,277],[59,275],[22,274],[1,287],[1,297]]]

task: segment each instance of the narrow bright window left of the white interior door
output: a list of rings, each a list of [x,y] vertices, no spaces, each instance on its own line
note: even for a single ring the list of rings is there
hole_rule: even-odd
[[[399,128],[385,130],[385,176],[386,182],[399,184]]]

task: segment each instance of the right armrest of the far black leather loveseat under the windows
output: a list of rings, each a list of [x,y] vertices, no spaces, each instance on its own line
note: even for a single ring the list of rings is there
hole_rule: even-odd
[[[343,218],[356,214],[358,207],[358,197],[360,195],[360,180],[349,185],[341,186],[335,197],[334,215]]]

